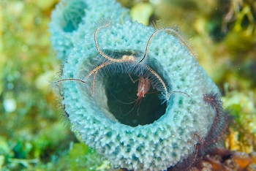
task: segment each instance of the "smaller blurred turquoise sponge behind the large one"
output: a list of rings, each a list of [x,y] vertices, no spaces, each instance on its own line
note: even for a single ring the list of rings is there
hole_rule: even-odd
[[[74,42],[84,38],[84,30],[106,16],[113,16],[113,22],[129,20],[128,10],[114,0],[62,0],[57,4],[49,23],[50,41],[57,58],[65,60]]]

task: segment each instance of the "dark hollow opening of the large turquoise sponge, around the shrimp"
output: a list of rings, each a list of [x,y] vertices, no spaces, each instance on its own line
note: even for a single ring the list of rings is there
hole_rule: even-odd
[[[131,75],[133,80],[137,75]],[[128,126],[138,126],[154,123],[165,114],[166,102],[161,104],[161,92],[152,86],[144,97],[138,100],[138,83],[132,83],[128,74],[116,74],[108,77],[105,92],[108,98],[108,108],[115,118]]]

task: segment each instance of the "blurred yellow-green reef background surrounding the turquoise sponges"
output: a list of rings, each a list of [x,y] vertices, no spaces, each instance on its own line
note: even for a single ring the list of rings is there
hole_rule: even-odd
[[[0,170],[112,170],[109,161],[70,131],[49,87],[61,66],[48,32],[58,2],[1,0]],[[140,23],[165,20],[181,28],[242,129],[230,126],[226,148],[255,151],[256,2],[120,2]]]

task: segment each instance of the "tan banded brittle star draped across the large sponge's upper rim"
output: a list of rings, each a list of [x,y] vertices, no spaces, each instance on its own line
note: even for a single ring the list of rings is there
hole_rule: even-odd
[[[102,29],[102,28],[110,26],[110,23],[111,23],[111,20],[109,20],[108,23],[106,23],[102,26],[99,26],[94,31],[94,44],[95,44],[95,46],[97,48],[97,51],[100,54],[100,56],[105,58],[106,61],[104,61],[103,64],[100,64],[99,66],[92,69],[91,72],[89,72],[89,74],[86,76],[85,80],[81,80],[81,79],[78,79],[78,78],[64,78],[64,79],[61,79],[61,80],[58,80],[58,81],[54,82],[54,84],[61,83],[63,81],[68,81],[68,80],[75,80],[75,81],[78,81],[80,83],[86,83],[86,81],[89,79],[89,77],[91,75],[94,75],[94,78],[92,80],[92,88],[91,88],[91,95],[94,96],[95,82],[96,82],[96,77],[97,77],[97,73],[99,72],[99,69],[102,69],[105,66],[108,66],[108,65],[111,65],[111,64],[126,64],[126,65],[128,65],[128,67],[133,67],[132,69],[127,69],[127,71],[136,70],[136,67],[137,68],[140,67],[140,69],[142,70],[142,72],[139,73],[140,77],[143,77],[144,70],[147,70],[148,72],[151,73],[151,75],[154,75],[154,77],[156,77],[158,82],[160,83],[159,85],[161,85],[161,86],[158,86],[157,89],[161,92],[162,91],[164,92],[163,94],[165,96],[165,100],[168,100],[170,98],[170,95],[173,94],[173,93],[182,93],[182,94],[185,94],[185,95],[189,96],[188,94],[186,94],[182,91],[170,91],[170,92],[168,92],[167,86],[165,85],[165,82],[162,80],[162,78],[157,74],[157,72],[154,71],[154,69],[151,69],[151,67],[148,66],[148,64],[146,64],[146,57],[148,56],[148,47],[149,47],[153,37],[157,33],[159,33],[160,31],[171,31],[173,34],[176,35],[176,37],[178,37],[178,39],[181,41],[181,43],[183,43],[189,49],[189,53],[192,53],[192,50],[189,47],[189,45],[187,44],[187,42],[184,41],[184,39],[178,34],[177,31],[173,30],[172,28],[161,28],[157,31],[154,31],[154,33],[151,34],[151,37],[148,39],[143,58],[140,58],[139,60],[136,60],[135,56],[133,56],[133,55],[130,55],[130,56],[124,55],[121,58],[111,58],[110,56],[103,53],[102,50],[100,50],[99,44],[97,42],[97,34],[99,33],[99,30]],[[194,54],[194,53],[192,53],[192,54]]]

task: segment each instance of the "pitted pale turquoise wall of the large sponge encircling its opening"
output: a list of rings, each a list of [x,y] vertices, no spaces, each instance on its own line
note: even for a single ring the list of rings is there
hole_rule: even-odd
[[[94,45],[94,34],[86,31],[88,37],[76,42],[69,53],[62,69],[63,78],[83,79],[91,69],[102,64],[102,56],[99,56]],[[110,56],[139,56],[145,50],[152,33],[154,28],[140,23],[112,23],[99,31],[97,41],[99,47],[108,51]],[[69,115],[72,128],[80,132],[87,145],[95,148],[116,167],[128,170],[167,170],[195,151],[197,142],[189,142],[192,134],[200,131],[204,137],[209,132],[214,121],[214,110],[203,102],[203,94],[219,90],[189,54],[187,47],[181,45],[171,34],[157,34],[148,47],[147,58],[148,66],[165,80],[169,90],[189,94],[189,97],[173,94],[167,103],[165,114],[153,123],[129,126],[118,121],[113,112],[110,112],[115,110],[117,104],[108,105],[110,97],[106,95],[106,91],[110,88],[107,87],[108,79],[113,75],[106,73],[116,72],[118,75],[119,68],[103,69],[104,72],[96,80],[94,96],[89,91],[91,84],[63,82],[62,104]],[[124,82],[122,77],[115,83],[121,82]],[[110,110],[111,107],[113,109]],[[147,117],[151,117],[151,113]]]

